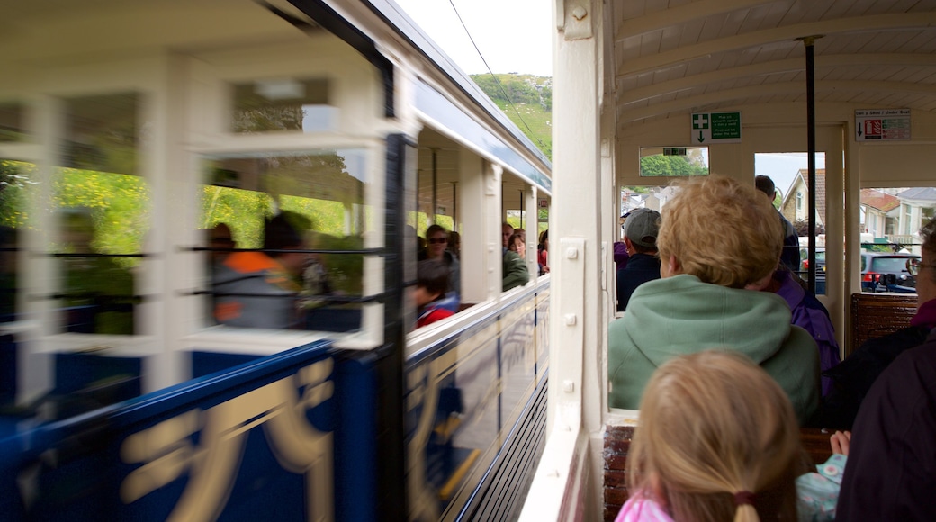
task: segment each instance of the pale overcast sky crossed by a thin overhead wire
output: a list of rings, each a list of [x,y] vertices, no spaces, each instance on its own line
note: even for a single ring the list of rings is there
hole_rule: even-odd
[[[394,0],[468,74],[552,76],[552,3],[549,0]]]

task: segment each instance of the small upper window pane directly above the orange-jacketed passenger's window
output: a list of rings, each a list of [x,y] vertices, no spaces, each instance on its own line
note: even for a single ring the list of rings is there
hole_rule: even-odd
[[[256,80],[233,88],[236,133],[321,132],[337,125],[338,109],[329,106],[329,80]]]

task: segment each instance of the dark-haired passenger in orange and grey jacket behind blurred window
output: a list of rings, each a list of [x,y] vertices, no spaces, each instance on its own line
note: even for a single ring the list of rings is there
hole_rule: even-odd
[[[213,281],[218,323],[255,328],[300,326],[297,297],[307,254],[282,252],[303,248],[288,215],[277,214],[264,225],[263,249],[271,252],[235,252],[221,264]]]

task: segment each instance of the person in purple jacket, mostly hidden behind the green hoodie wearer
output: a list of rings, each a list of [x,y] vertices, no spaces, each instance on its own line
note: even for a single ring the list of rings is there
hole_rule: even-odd
[[[764,290],[773,292],[786,300],[793,312],[793,324],[810,332],[812,339],[819,346],[819,367],[828,370],[839,363],[839,341],[835,340],[835,326],[828,316],[826,306],[822,304],[803,284],[796,274],[785,265],[773,273],[773,278]],[[832,386],[832,380],[822,377],[822,394],[825,396]]]

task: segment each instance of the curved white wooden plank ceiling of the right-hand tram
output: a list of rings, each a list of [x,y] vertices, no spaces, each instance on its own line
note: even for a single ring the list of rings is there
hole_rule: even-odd
[[[936,0],[607,0],[619,127],[744,105],[936,112]],[[610,50],[609,50],[610,51]]]

